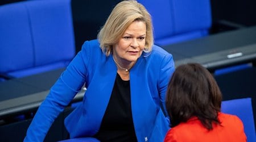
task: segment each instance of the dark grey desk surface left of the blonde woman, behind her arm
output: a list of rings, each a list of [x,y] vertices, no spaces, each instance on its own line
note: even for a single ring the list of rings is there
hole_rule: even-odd
[[[64,69],[57,69],[0,82],[0,119],[38,108],[63,71]],[[81,90],[73,102],[81,101],[83,95],[84,91]]]

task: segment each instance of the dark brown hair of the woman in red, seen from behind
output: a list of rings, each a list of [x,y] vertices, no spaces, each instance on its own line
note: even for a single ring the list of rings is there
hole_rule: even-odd
[[[222,101],[221,91],[212,74],[197,63],[176,68],[169,82],[166,107],[171,127],[196,116],[208,129],[212,122],[219,124],[217,113]]]

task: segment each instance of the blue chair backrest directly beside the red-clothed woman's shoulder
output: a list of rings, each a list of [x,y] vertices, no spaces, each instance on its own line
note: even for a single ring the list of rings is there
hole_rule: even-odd
[[[243,122],[247,141],[256,141],[253,107],[251,98],[232,99],[222,101],[221,111],[227,114],[237,115]]]

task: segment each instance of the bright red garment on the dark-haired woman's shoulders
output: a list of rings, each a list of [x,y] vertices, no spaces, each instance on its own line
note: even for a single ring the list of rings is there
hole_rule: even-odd
[[[208,131],[201,124],[200,120],[193,117],[188,122],[180,123],[174,128],[171,128],[164,139],[164,142],[169,141],[246,141],[246,135],[243,131],[242,121],[235,115],[224,114],[220,112],[218,119],[221,125],[213,124],[213,130]]]

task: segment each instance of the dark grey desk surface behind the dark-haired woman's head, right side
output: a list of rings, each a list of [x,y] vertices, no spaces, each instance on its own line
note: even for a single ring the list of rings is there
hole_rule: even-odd
[[[196,40],[163,46],[175,64],[199,62],[209,69],[250,62],[256,59],[256,26]]]

